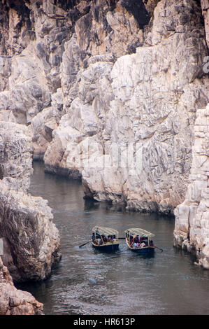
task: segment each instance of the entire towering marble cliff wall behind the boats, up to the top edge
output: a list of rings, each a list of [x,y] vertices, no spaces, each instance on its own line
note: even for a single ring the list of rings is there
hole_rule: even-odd
[[[197,113],[208,104],[208,8],[208,0],[1,1],[1,120],[26,125],[34,159],[82,179],[87,197],[173,214],[190,200]],[[189,248],[180,208],[175,241]],[[197,239],[192,246],[199,250]]]

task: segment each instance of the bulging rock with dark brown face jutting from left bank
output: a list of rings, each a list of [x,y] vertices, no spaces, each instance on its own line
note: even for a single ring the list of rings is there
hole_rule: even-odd
[[[48,278],[61,258],[59,232],[48,202],[11,190],[1,181],[0,186],[0,234],[10,250],[10,255],[2,255],[3,264],[16,282]]]

